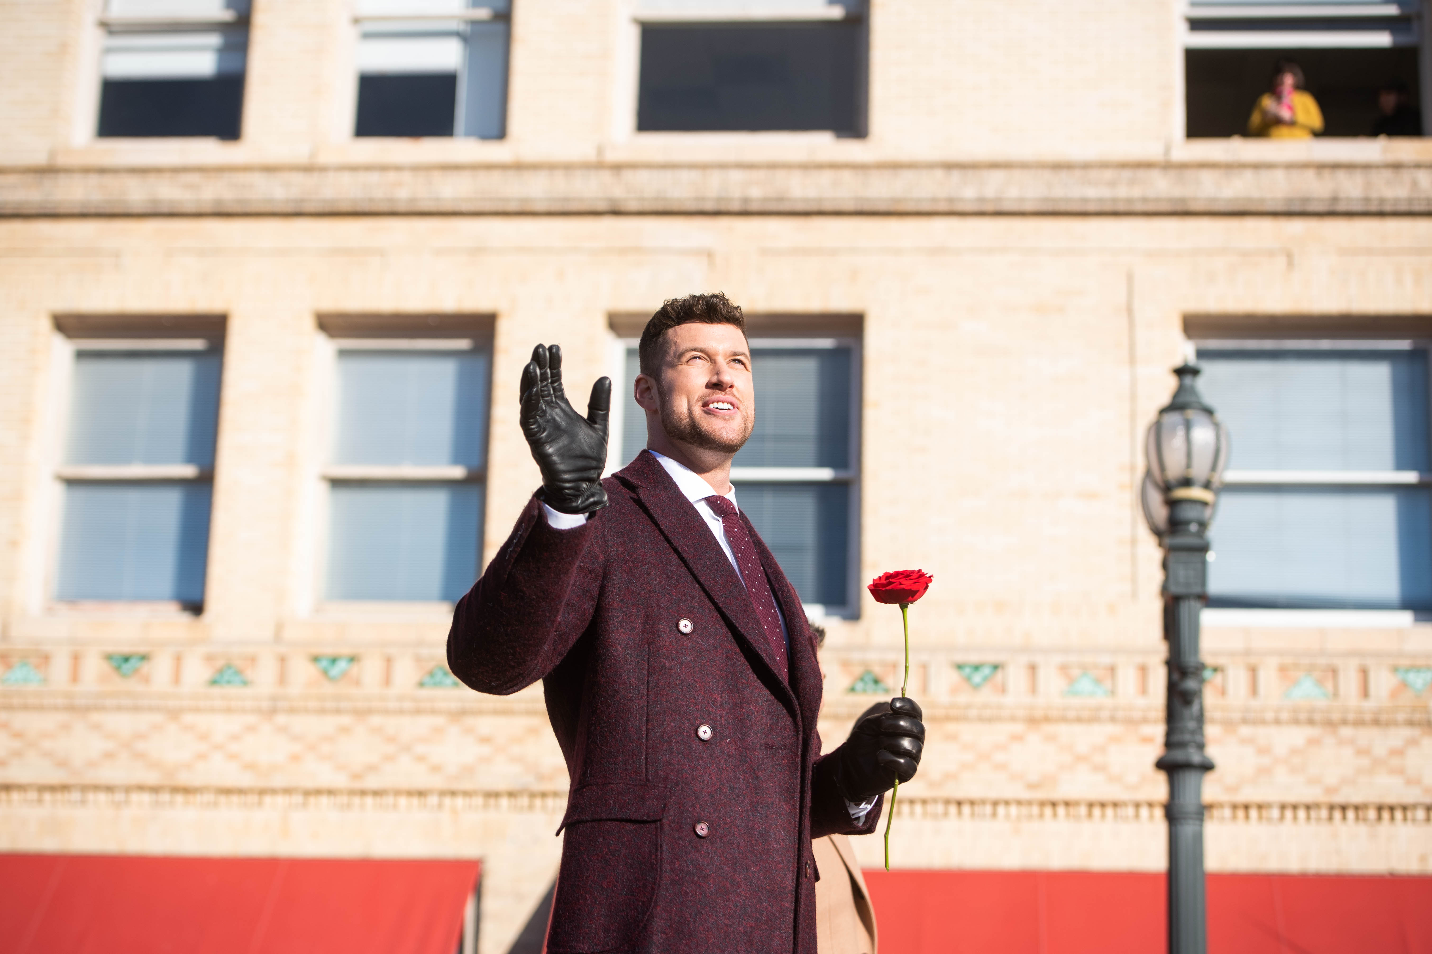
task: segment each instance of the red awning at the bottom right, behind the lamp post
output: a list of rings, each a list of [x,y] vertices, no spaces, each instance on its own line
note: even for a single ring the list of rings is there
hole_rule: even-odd
[[[866,871],[891,954],[1167,950],[1164,875]],[[1214,954],[1428,954],[1432,878],[1210,874]]]

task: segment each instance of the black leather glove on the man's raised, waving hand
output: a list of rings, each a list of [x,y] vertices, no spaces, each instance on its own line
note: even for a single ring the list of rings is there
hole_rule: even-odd
[[[523,368],[523,435],[541,469],[541,501],[563,513],[591,513],[607,505],[607,413],[611,379],[591,385],[587,416],[561,390],[561,348],[538,345]]]

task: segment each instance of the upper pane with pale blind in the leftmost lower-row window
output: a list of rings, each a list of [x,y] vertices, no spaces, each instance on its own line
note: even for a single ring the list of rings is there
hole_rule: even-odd
[[[215,352],[79,352],[66,463],[213,466]]]

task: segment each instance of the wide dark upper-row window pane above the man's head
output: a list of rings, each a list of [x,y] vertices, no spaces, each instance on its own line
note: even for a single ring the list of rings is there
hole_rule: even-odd
[[[858,47],[849,23],[642,29],[642,132],[853,133]]]

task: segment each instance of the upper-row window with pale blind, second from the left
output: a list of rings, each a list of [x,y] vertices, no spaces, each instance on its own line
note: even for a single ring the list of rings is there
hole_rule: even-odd
[[[355,136],[501,139],[510,0],[358,0]]]

